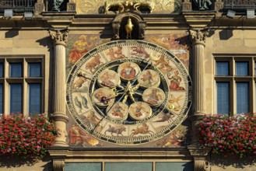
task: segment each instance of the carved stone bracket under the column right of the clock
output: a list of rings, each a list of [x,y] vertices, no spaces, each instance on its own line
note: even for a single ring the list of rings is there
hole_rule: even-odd
[[[194,170],[209,171],[209,162],[206,160],[211,148],[198,147],[195,145],[188,146],[191,156],[194,158]]]

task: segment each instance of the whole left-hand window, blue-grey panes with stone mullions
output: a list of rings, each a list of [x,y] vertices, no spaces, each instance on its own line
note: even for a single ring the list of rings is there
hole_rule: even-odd
[[[41,58],[0,58],[0,113],[42,112],[41,69]]]

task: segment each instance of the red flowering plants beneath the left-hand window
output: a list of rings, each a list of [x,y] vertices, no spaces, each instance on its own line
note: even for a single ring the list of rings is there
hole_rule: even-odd
[[[19,155],[21,159],[42,159],[54,144],[57,130],[44,114],[0,116],[0,156]]]

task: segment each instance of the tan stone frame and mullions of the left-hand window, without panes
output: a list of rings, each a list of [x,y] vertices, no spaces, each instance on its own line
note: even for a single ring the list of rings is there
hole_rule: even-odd
[[[10,63],[22,63],[22,77],[13,78],[9,77],[9,64]],[[29,77],[29,63],[40,63],[40,77]],[[3,113],[9,114],[10,109],[10,83],[22,84],[22,113],[27,115],[29,113],[29,84],[40,83],[40,113],[44,113],[44,58],[43,56],[0,56],[0,63],[3,64],[3,77],[0,78],[0,83],[3,84]]]

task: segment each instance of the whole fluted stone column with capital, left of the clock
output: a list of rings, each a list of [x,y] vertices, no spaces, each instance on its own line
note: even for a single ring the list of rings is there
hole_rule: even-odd
[[[65,44],[68,41],[68,30],[50,30],[54,44],[54,75],[53,75],[53,116],[51,118],[58,129],[58,137],[54,146],[68,146],[66,143],[65,113]]]

